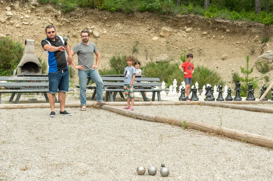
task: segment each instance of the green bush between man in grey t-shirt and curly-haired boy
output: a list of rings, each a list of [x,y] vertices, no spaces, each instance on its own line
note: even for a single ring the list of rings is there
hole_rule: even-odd
[[[109,60],[110,67],[113,68],[116,72],[123,74],[125,67],[128,66],[126,57],[126,55],[112,56]]]

